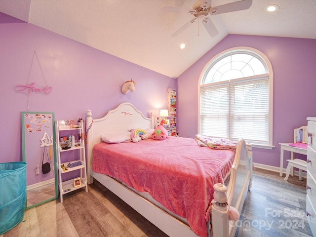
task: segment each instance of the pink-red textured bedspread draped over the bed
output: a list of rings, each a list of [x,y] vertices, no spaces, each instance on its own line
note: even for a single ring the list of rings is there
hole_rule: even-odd
[[[99,143],[93,149],[92,170],[148,192],[186,218],[197,235],[207,237],[204,216],[213,198],[213,184],[224,183],[234,157],[234,151],[200,147],[195,139],[182,137]]]

